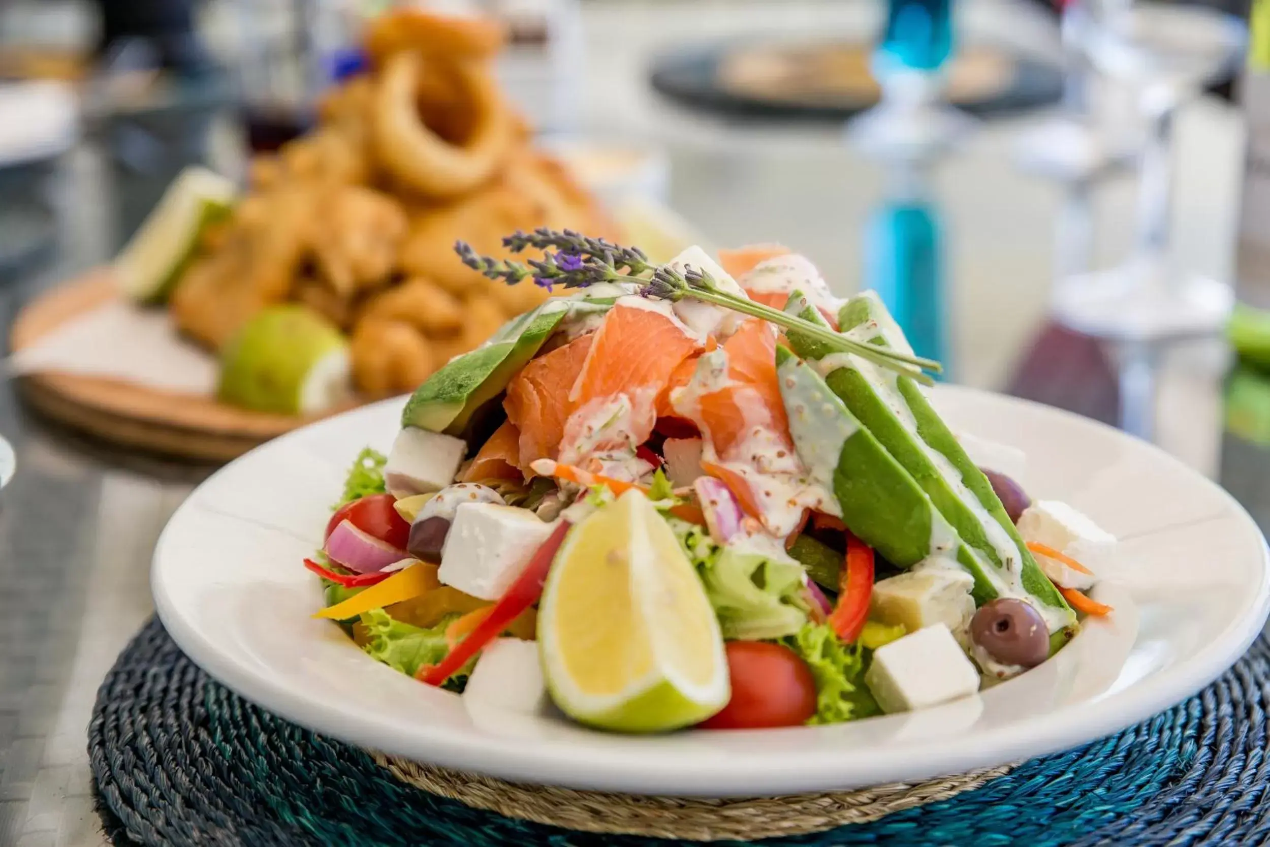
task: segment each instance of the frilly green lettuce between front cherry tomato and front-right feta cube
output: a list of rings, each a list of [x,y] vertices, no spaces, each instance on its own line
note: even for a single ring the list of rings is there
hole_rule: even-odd
[[[824,624],[808,624],[781,644],[803,657],[815,678],[815,715],[809,724],[841,724],[881,714],[865,686],[869,650],[845,644]]]

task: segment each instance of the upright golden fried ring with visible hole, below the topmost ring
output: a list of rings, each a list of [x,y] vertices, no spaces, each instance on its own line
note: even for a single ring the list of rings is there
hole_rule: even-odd
[[[457,145],[428,128],[419,116],[415,86],[423,58],[418,53],[394,53],[375,90],[375,152],[403,185],[427,197],[457,197],[479,187],[507,160],[514,138],[511,109],[488,69],[460,62],[452,71],[474,116],[470,132]]]

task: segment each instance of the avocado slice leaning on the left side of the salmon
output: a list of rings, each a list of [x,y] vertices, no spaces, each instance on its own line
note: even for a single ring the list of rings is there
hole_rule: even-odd
[[[415,389],[401,425],[461,436],[476,411],[507,389],[566,320],[603,314],[616,300],[585,293],[559,297],[513,317],[484,347],[450,359]]]

